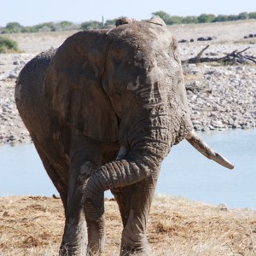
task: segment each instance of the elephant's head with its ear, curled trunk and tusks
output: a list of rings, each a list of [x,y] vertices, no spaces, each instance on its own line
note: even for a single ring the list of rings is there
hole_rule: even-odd
[[[87,218],[102,214],[96,209],[102,191],[156,178],[183,138],[232,167],[193,131],[176,38],[158,18],[131,21],[67,38],[46,73],[44,94],[61,119],[93,140],[120,146],[117,159],[85,185]]]

